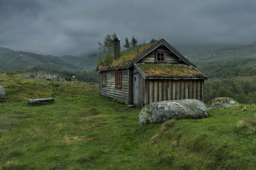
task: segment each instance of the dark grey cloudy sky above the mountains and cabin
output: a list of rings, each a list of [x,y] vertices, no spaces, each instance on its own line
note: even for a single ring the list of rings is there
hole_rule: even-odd
[[[115,32],[171,45],[256,41],[256,0],[0,0],[0,47],[86,56]]]

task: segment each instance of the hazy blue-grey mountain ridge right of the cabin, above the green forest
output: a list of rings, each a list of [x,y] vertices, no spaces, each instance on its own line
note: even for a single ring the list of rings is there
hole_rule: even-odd
[[[237,48],[224,48],[214,51],[206,51],[197,57],[189,57],[193,62],[217,61],[234,58],[254,58],[256,57],[256,42]]]

